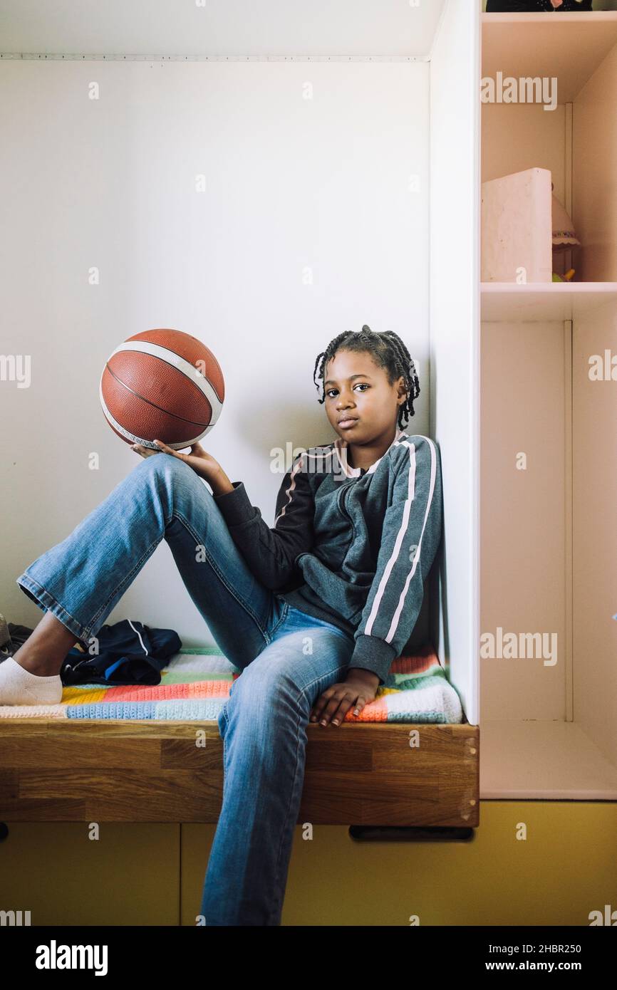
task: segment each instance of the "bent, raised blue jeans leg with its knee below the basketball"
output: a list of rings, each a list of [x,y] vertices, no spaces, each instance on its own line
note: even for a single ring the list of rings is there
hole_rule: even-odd
[[[87,644],[163,539],[217,644],[243,668],[270,642],[280,599],[250,571],[212,492],[171,454],[141,460],[17,583]]]

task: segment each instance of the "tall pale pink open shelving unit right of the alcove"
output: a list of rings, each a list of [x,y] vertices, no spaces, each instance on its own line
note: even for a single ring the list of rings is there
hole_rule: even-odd
[[[617,383],[589,367],[617,355],[617,13],[484,14],[481,45],[482,77],[558,80],[553,111],[482,105],[481,181],[551,169],[581,247],[576,281],[481,285],[481,630],[557,660],[480,660],[480,798],[615,800]]]

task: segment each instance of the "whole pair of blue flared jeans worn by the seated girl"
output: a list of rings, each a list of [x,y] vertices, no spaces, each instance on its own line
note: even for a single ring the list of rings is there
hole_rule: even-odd
[[[219,648],[242,670],[218,718],[223,805],[201,914],[206,925],[279,925],[306,726],[319,695],[345,679],[354,639],[263,587],[210,489],[163,452],[141,460],[17,582],[87,644],[163,539]]]

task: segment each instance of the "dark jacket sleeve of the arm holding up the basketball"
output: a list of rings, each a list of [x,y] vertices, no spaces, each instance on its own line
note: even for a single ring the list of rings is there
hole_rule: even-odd
[[[251,504],[243,481],[214,499],[251,571],[271,591],[287,591],[294,581],[296,557],[313,545],[314,500],[305,457],[300,454],[285,474],[270,529]]]

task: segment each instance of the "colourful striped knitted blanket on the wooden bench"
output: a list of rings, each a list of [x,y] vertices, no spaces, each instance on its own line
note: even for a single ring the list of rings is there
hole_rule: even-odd
[[[235,678],[242,676],[216,647],[181,649],[154,686],[79,684],[64,687],[59,705],[0,705],[0,719],[144,719],[216,721]],[[399,656],[374,701],[346,722],[463,722],[459,695],[433,646]]]

